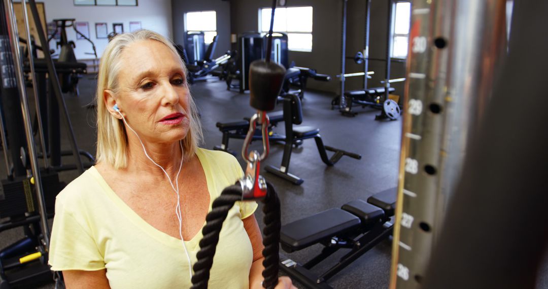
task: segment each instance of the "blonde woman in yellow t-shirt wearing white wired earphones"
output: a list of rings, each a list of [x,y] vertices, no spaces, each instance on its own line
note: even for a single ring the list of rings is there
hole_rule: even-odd
[[[230,154],[198,148],[186,68],[164,37],[113,38],[98,77],[98,162],[57,196],[52,270],[68,288],[189,288],[207,212],[242,169]],[[229,212],[211,288],[261,288],[256,207],[238,202]]]

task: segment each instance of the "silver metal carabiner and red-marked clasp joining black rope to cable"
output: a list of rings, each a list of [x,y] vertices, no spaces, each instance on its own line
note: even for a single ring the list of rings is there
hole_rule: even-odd
[[[257,123],[261,125],[262,154],[252,151],[248,153],[249,144],[253,141]],[[249,130],[242,147],[242,156],[247,162],[246,175],[239,181],[242,186],[242,200],[259,199],[266,196],[265,178],[259,175],[261,160],[269,155],[269,116],[264,111],[258,111],[249,121]]]

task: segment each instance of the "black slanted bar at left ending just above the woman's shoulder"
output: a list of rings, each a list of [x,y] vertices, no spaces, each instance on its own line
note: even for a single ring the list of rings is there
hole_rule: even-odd
[[[42,45],[42,47],[49,47],[47,39],[45,38],[45,35],[44,35],[42,22],[40,22],[40,16],[38,15],[38,8],[36,8],[36,1],[29,0],[28,3],[30,4],[30,7],[31,7],[32,18],[35,20],[36,30],[38,31],[38,38],[40,39],[40,44]],[[62,112],[62,116],[63,116],[62,119],[64,120],[64,124],[66,126],[67,135],[68,135],[68,143],[71,146],[72,155],[76,161],[76,167],[78,168],[78,171],[80,173],[83,173],[84,166],[82,165],[82,159],[80,158],[78,145],[76,144],[76,137],[74,135],[74,131],[72,130],[72,123],[70,121],[70,117],[68,117],[68,111],[65,104],[65,100],[63,99],[63,95],[61,93],[61,85],[59,84],[59,78],[57,76],[57,73],[55,72],[55,66],[53,65],[52,55],[44,52],[44,58],[45,58],[45,63],[48,66],[48,77],[51,80],[50,88],[53,88],[53,93],[55,94],[55,98],[57,99],[59,110]]]

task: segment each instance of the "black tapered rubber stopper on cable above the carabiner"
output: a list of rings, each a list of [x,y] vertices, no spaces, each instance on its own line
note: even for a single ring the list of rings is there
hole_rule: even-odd
[[[274,62],[255,60],[249,66],[249,105],[271,111],[282,89],[286,68]]]

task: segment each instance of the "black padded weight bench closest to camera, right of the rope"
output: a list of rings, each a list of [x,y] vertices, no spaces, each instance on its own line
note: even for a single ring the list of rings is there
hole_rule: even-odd
[[[396,190],[391,188],[354,200],[315,215],[286,224],[281,228],[280,243],[288,253],[322,244],[322,252],[305,264],[280,254],[280,268],[310,288],[330,288],[326,281],[392,234]],[[310,269],[341,248],[350,249],[340,261],[321,275]]]

